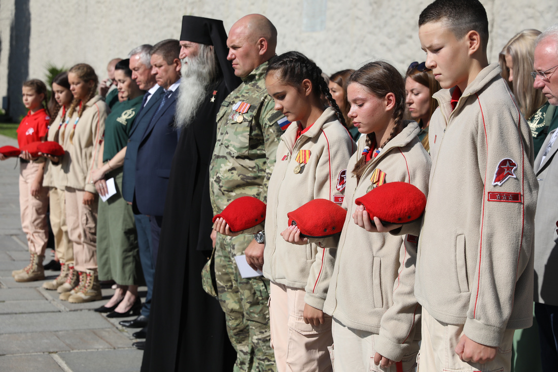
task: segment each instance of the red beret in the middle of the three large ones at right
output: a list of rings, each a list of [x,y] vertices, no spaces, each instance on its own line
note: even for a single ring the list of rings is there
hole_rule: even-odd
[[[341,232],[347,211],[328,199],[314,199],[287,217],[288,224],[296,225],[301,235],[322,238]]]

